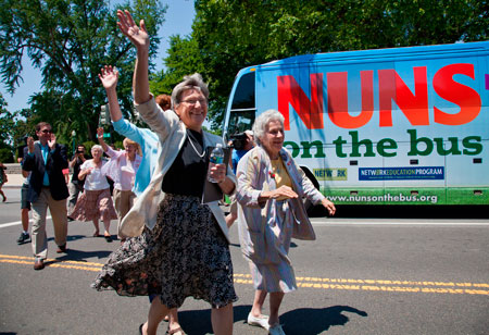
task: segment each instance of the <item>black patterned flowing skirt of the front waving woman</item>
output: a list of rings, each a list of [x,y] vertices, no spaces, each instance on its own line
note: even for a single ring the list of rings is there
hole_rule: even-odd
[[[190,296],[213,308],[238,300],[229,246],[212,211],[197,197],[177,195],[165,195],[154,228],[112,252],[91,286],[121,296],[159,295],[167,308]]]

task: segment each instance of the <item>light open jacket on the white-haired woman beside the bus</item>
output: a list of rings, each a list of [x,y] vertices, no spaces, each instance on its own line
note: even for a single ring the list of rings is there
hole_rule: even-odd
[[[298,198],[288,199],[290,216],[293,221],[292,237],[314,240],[314,233],[309,220],[303,198],[313,203],[319,203],[324,196],[305,176],[304,172],[293,161],[287,149],[281,148],[280,157],[292,182],[292,189]],[[259,202],[264,190],[276,189],[275,176],[272,173],[272,162],[266,151],[258,146],[248,151],[238,163],[238,232],[241,252],[246,259],[258,264],[277,264],[281,260],[290,263],[287,253],[278,243],[278,237],[269,225],[275,221],[275,199]]]

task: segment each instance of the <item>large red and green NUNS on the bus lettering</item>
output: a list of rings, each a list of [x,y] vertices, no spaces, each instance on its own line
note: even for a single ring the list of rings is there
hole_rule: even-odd
[[[401,110],[402,114],[413,126],[429,126],[428,103],[428,76],[427,66],[413,67],[414,92],[408,87],[396,70],[377,70],[378,75],[378,101],[379,101],[379,127],[392,127],[392,101]],[[441,67],[432,77],[432,89],[442,99],[459,107],[456,113],[447,113],[437,106],[432,106],[432,122],[441,125],[457,126],[471,123],[480,113],[481,99],[479,94],[453,79],[455,75],[467,76],[475,80],[473,64],[456,63]],[[374,71],[361,71],[361,91],[355,92],[360,97],[362,110],[356,115],[349,113],[348,107],[348,72],[334,72],[326,74],[327,83],[327,115],[336,126],[349,132],[349,137],[338,136],[331,140],[336,154],[346,157],[396,157],[398,144],[392,138],[381,138],[375,144],[368,138],[361,138],[359,131],[371,122],[374,114]],[[290,131],[290,107],[294,109],[300,120],[308,129],[324,128],[324,96],[323,73],[310,75],[311,99],[302,90],[292,75],[277,76],[278,111],[284,115],[284,127]],[[355,131],[353,131],[355,129]],[[399,140],[399,139],[398,139]],[[437,152],[439,156],[476,156],[482,151],[481,136],[473,135],[459,137],[422,137],[416,129],[406,129],[406,141],[410,142],[408,156],[429,156]],[[346,146],[347,144],[351,146]],[[448,144],[448,145],[446,145]],[[315,149],[315,158],[324,158],[324,144],[314,140],[301,141],[301,146],[293,141],[287,141],[297,157],[302,148],[301,158],[311,158],[311,148]],[[364,153],[361,153],[360,148]],[[350,150],[350,151],[348,151]]]

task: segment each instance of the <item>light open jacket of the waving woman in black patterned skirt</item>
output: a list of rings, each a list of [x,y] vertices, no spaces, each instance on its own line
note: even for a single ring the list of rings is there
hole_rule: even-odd
[[[121,224],[122,234],[129,237],[140,235],[145,224],[150,229],[152,229],[156,224],[158,208],[161,200],[164,198],[164,193],[161,189],[163,177],[172,166],[175,158],[187,139],[185,124],[180,121],[178,115],[170,110],[163,112],[160,106],[158,106],[154,101],[153,96],[151,96],[151,99],[148,102],[142,104],[135,103],[135,106],[145,122],[159,136],[159,148],[158,162],[153,175],[151,176],[150,184],[141,196],[138,197],[137,201]],[[217,135],[206,132],[202,133],[204,148],[215,147],[218,142],[223,144],[222,138]],[[233,169],[229,166],[227,169],[227,177],[229,177],[236,185],[236,177],[233,173]],[[223,210],[218,206],[218,201],[210,202],[208,206],[229,241],[226,221]]]

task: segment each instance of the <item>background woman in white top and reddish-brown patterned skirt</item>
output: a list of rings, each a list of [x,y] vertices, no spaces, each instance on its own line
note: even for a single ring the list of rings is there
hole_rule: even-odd
[[[110,185],[102,172],[102,166],[106,164],[102,161],[102,153],[101,146],[93,146],[91,148],[93,159],[86,160],[80,166],[78,179],[85,179],[85,190],[76,202],[72,218],[78,221],[93,221],[93,236],[99,236],[99,219],[102,219],[105,240],[112,241],[109,227],[111,220],[116,220],[117,214],[112,203]]]

